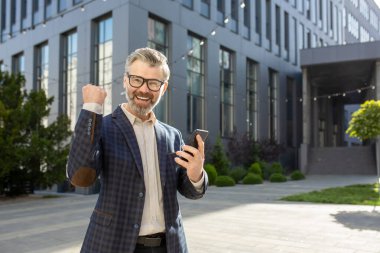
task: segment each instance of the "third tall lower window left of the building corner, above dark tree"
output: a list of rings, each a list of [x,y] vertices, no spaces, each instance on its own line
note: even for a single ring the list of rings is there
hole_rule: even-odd
[[[44,90],[48,94],[49,84],[49,46],[48,43],[42,43],[35,48],[35,78],[34,89]]]

